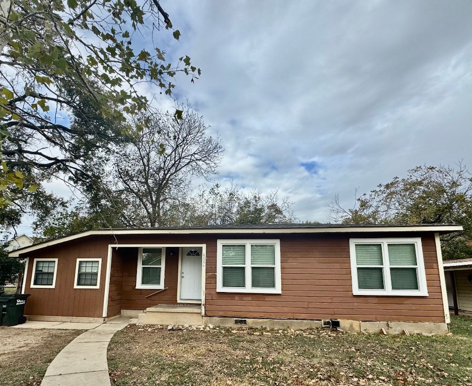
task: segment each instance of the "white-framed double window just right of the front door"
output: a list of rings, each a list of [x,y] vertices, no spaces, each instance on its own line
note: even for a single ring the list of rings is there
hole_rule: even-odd
[[[280,294],[280,241],[218,240],[217,291]]]

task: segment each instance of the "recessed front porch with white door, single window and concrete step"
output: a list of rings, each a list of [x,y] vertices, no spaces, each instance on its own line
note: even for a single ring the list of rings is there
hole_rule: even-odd
[[[189,318],[182,324],[194,324],[199,317],[201,324],[205,245],[121,244],[111,245],[109,254],[104,317],[128,310],[139,315],[139,323],[169,324]]]

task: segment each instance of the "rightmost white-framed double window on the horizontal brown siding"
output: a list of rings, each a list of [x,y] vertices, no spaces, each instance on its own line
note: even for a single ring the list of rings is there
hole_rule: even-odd
[[[351,239],[354,295],[427,296],[420,238]]]

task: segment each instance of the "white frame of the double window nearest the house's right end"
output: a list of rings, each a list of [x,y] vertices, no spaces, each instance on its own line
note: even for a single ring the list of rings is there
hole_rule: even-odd
[[[382,246],[383,259],[383,284],[384,289],[359,289],[357,279],[357,261],[356,261],[356,244],[380,244]],[[390,268],[404,268],[407,266],[392,265],[388,260],[388,244],[414,244],[417,257],[417,276],[418,289],[392,289]],[[423,258],[423,247],[421,238],[378,238],[378,239],[350,239],[349,250],[351,254],[351,276],[353,295],[375,295],[375,296],[428,296],[428,287],[426,284],[425,262]],[[369,267],[359,265],[359,267]],[[413,267],[413,266],[408,266]]]

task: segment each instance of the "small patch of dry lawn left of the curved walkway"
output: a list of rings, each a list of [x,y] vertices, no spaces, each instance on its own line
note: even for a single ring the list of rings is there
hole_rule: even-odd
[[[0,327],[0,386],[36,386],[52,359],[82,330]]]

